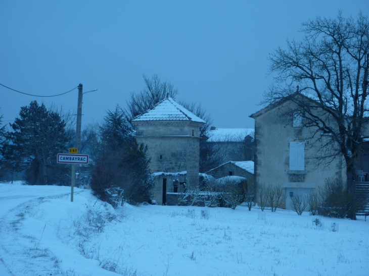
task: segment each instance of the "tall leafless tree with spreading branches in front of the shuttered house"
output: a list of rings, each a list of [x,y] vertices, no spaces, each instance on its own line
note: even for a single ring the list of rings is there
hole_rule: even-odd
[[[302,127],[318,139],[317,158],[343,156],[348,186],[352,188],[354,159],[364,138],[369,75],[369,22],[359,13],[356,19],[317,17],[302,23],[301,42],[287,41],[269,55],[270,74],[276,82],[264,94],[264,103],[290,100],[296,106],[286,118],[298,113]],[[297,92],[296,92],[297,87]],[[306,137],[308,138],[308,137]],[[327,160],[325,160],[327,162]]]

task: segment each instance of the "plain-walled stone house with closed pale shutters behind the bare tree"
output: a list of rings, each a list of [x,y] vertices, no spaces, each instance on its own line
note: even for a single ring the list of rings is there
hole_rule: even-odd
[[[256,181],[265,185],[281,185],[286,192],[287,209],[291,208],[294,194],[313,192],[328,178],[346,180],[342,156],[327,160],[318,158],[321,154],[329,155],[329,152],[319,152],[318,145],[327,143],[333,139],[332,136],[303,127],[298,113],[289,113],[296,108],[295,103],[286,99],[250,116],[255,119]]]

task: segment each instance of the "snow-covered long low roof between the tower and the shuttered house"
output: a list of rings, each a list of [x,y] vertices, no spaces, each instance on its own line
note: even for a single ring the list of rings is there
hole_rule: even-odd
[[[208,142],[242,142],[247,135],[254,137],[254,129],[220,129],[209,131]]]

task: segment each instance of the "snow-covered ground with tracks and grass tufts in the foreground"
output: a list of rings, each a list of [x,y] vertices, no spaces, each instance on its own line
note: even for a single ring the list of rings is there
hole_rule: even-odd
[[[360,216],[243,206],[114,210],[89,190],[75,189],[74,202],[70,187],[0,191],[0,275],[369,275],[369,221]]]

